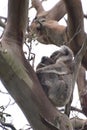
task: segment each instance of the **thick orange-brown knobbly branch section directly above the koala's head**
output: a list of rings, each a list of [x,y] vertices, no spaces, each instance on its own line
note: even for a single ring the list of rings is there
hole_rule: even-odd
[[[67,41],[65,26],[58,25],[55,20],[42,21],[38,19],[31,24],[33,34],[37,40],[44,44],[54,44],[60,46]]]

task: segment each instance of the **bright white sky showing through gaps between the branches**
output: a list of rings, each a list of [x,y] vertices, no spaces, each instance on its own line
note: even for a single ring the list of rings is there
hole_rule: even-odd
[[[50,9],[55,3],[57,3],[58,0],[48,0],[46,2],[43,3],[44,7],[46,10]],[[83,2],[83,6],[84,6],[84,12],[87,13],[87,1],[86,0],[82,0]],[[32,18],[34,17],[35,14],[35,10],[33,9],[30,12],[30,18],[32,20]],[[3,0],[0,1],[0,16],[7,16],[7,0]],[[87,30],[87,21],[85,20],[85,30]],[[1,31],[1,28],[0,28]],[[36,64],[40,61],[40,58],[42,56],[47,56],[50,55],[53,51],[57,50],[56,46],[50,46],[50,45],[33,45],[33,52],[36,54],[36,59],[35,62]],[[2,91],[6,91],[5,88],[3,87],[3,85],[0,82],[0,90]],[[77,92],[77,88],[75,88],[75,92]],[[74,106],[78,107],[79,105],[79,98],[78,96],[76,96],[76,93],[74,93]],[[9,98],[11,98],[8,95],[3,95],[0,93],[0,106],[1,105],[7,105],[7,103],[9,102]],[[12,103],[13,101],[11,101]],[[78,104],[78,106],[77,106]],[[26,119],[24,118],[22,112],[20,111],[20,109],[18,108],[18,106],[15,105],[11,105],[6,109],[6,112],[11,114],[13,118],[11,118],[11,122],[14,124],[14,126],[16,126],[17,129],[22,128],[25,124],[26,124]],[[73,113],[72,113],[73,114]],[[77,113],[78,115],[78,113]],[[82,117],[82,115],[80,115]],[[84,116],[83,116],[84,118]],[[21,120],[20,120],[21,119]]]

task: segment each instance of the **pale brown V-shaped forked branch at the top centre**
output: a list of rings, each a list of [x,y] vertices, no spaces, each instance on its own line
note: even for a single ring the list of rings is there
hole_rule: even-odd
[[[62,0],[59,1],[53,8],[48,11],[44,10],[42,3],[39,0],[32,0],[32,5],[37,11],[38,18],[45,17],[49,20],[59,21],[66,14],[66,8]]]

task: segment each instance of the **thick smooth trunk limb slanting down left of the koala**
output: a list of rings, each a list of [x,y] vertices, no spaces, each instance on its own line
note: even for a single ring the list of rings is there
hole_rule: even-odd
[[[33,129],[53,130],[51,126],[55,126],[54,130],[72,130],[69,118],[48,100],[34,70],[24,57],[21,45],[27,11],[28,0],[9,0],[8,20],[0,46],[0,78]]]

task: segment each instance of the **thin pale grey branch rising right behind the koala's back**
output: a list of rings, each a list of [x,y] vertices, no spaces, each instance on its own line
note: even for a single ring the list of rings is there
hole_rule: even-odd
[[[73,70],[74,73],[73,73],[73,79],[72,79],[72,89],[73,90],[74,90],[74,86],[75,86],[75,81],[77,80],[77,75],[78,75],[78,71],[79,71],[79,68],[81,65],[81,61],[82,61],[82,58],[83,58],[86,50],[87,50],[87,39],[85,38],[85,40],[82,44],[82,47],[79,50],[79,52],[77,53],[77,55],[75,56],[74,62],[73,62],[73,66],[74,66],[74,70]],[[72,92],[69,103],[65,107],[65,114],[67,114],[68,116],[70,115],[72,99],[73,99],[73,92]]]

